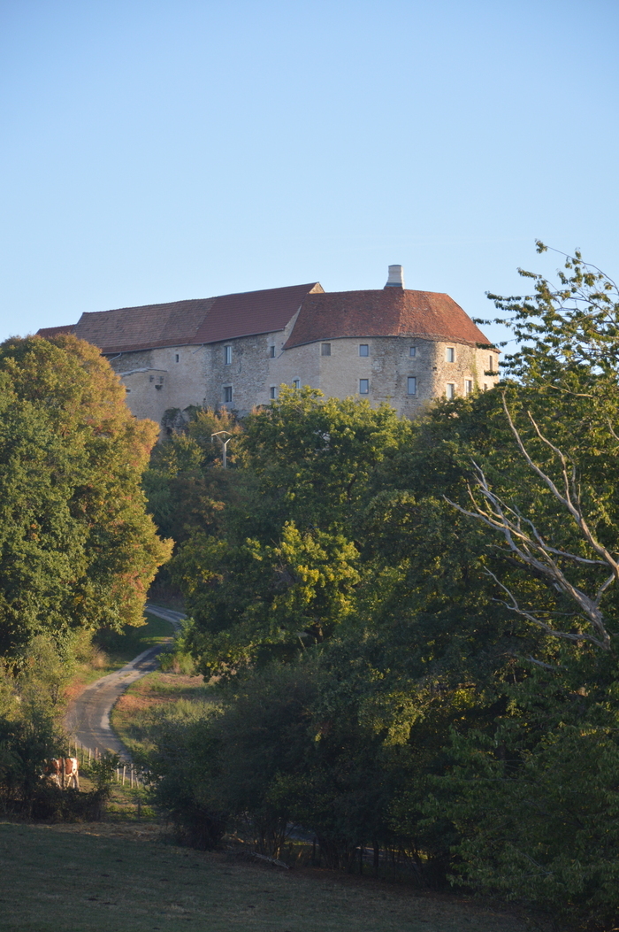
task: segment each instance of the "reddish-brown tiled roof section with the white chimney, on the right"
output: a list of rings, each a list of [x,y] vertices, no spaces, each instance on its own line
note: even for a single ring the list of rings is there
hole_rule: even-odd
[[[284,349],[343,336],[491,342],[449,295],[384,288],[307,295]]]

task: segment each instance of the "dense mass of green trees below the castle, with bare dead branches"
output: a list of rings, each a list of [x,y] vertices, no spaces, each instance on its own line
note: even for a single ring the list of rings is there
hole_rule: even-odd
[[[496,299],[496,390],[410,422],[282,389],[155,449],[177,650],[222,683],[150,761],[191,843],[296,825],[323,864],[616,925],[618,296],[579,255],[532,284]]]

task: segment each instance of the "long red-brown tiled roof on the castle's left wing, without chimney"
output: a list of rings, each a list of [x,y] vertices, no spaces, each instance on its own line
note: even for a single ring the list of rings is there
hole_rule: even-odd
[[[73,327],[46,327],[38,334],[74,333],[103,353],[199,346],[283,330],[303,298],[316,289],[322,291],[322,286],[313,281],[238,295],[86,312]]]

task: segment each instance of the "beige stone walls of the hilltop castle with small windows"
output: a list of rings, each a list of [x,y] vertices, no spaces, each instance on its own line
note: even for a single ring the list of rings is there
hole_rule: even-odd
[[[110,362],[127,387],[133,414],[159,423],[168,408],[183,410],[194,404],[225,404],[244,415],[256,405],[269,404],[281,383],[292,385],[295,379],[326,397],[367,398],[373,405],[387,402],[400,414],[414,417],[434,399],[445,397],[448,386],[453,386],[454,395],[464,395],[467,388],[491,388],[498,378],[495,350],[428,339],[345,337],[324,344],[329,354],[322,342],[283,349],[293,322],[272,334],[202,347],[127,352]],[[368,355],[361,355],[360,347],[367,347]],[[416,380],[414,393],[410,377]],[[367,381],[367,392],[362,380]],[[226,398],[226,390],[231,397]]]

